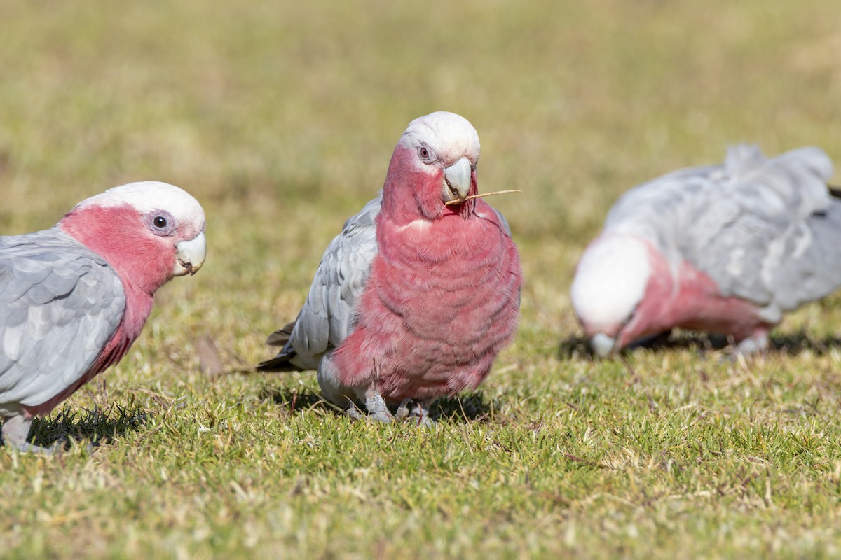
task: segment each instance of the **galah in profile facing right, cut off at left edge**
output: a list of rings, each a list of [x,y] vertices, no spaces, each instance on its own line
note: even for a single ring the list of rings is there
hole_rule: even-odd
[[[177,186],[117,186],[56,226],[0,237],[0,417],[21,451],[44,415],[117,364],[155,290],[204,263],[204,210]]]

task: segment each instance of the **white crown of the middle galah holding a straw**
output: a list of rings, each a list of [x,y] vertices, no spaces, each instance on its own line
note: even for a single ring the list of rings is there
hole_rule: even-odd
[[[399,144],[415,149],[421,143],[442,161],[452,163],[467,157],[475,164],[479,160],[479,133],[468,119],[456,113],[437,111],[409,123]]]

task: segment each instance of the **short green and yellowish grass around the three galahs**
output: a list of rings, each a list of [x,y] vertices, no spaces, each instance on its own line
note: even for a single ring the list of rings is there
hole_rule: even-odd
[[[118,367],[0,453],[0,557],[834,557],[841,299],[764,358],[684,336],[592,361],[569,307],[616,196],[726,145],[841,161],[841,4],[0,1],[0,233],[140,179],[208,214]],[[479,130],[521,248],[521,327],[435,431],[339,416],[271,355],[405,125]],[[698,342],[698,341],[701,342]]]

